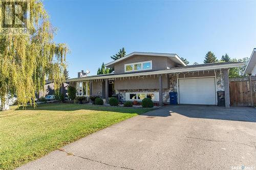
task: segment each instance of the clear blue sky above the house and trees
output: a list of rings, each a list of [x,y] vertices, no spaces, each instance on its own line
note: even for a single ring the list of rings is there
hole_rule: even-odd
[[[56,42],[68,44],[70,77],[95,75],[124,47],[176,53],[190,64],[208,51],[218,59],[250,57],[256,47],[256,1],[60,1],[45,0]]]

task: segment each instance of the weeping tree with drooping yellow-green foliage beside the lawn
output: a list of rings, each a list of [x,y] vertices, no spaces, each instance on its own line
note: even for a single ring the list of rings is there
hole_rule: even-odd
[[[46,79],[54,80],[55,89],[65,81],[68,49],[53,41],[56,29],[42,2],[28,0],[28,6],[27,34],[0,34],[0,110],[8,109],[8,95],[17,95],[19,106],[35,106],[35,92]]]

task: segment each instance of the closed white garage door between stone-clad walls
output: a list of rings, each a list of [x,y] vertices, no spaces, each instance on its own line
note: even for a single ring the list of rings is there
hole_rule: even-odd
[[[179,79],[180,104],[216,105],[215,78]]]

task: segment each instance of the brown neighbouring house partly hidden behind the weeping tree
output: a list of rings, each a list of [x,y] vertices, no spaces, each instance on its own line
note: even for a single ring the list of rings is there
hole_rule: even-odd
[[[59,89],[59,92],[62,93],[65,97],[68,96],[68,86],[69,84],[64,83],[63,87]],[[47,95],[54,95],[54,82],[51,80],[46,80],[46,84],[44,86],[44,90],[39,91],[39,94],[36,94],[37,98],[45,97]]]

